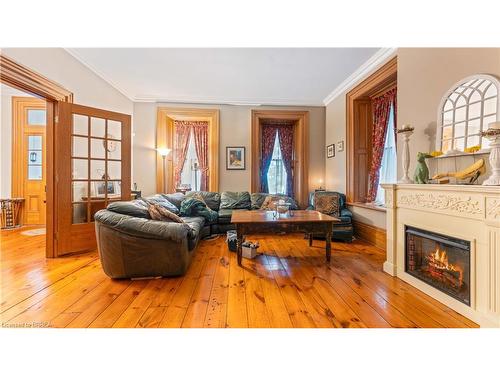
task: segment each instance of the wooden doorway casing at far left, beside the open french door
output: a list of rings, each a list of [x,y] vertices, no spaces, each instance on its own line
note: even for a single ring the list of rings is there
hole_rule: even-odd
[[[46,172],[47,172],[47,195],[46,195],[46,241],[45,254],[47,258],[56,257],[54,246],[54,232],[56,223],[55,202],[55,155],[54,155],[54,132],[55,132],[55,106],[58,101],[73,102],[73,93],[58,83],[38,74],[34,70],[23,66],[11,58],[0,53],[0,83],[4,83],[18,90],[27,92],[43,98],[47,101],[47,128],[46,128]]]

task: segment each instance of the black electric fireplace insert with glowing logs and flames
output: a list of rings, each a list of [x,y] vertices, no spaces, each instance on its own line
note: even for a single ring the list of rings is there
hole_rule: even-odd
[[[470,242],[405,226],[405,271],[470,306]]]

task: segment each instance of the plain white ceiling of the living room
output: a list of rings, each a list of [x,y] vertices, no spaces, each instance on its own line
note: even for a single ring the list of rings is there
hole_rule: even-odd
[[[133,101],[318,105],[377,48],[70,48]]]

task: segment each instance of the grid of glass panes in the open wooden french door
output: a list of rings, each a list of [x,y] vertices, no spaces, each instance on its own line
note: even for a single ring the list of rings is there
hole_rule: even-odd
[[[73,114],[72,222],[90,223],[110,201],[121,200],[119,121]]]

